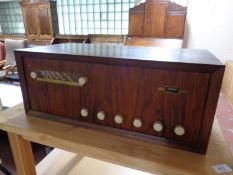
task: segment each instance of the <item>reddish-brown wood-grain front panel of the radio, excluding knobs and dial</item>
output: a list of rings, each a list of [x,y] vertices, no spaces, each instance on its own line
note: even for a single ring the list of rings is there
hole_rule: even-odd
[[[29,102],[33,111],[188,144],[198,141],[208,89],[207,73],[27,58],[25,65]],[[82,75],[88,82],[83,87],[41,82],[31,78],[31,72],[36,70]],[[162,90],[166,86],[180,88],[183,93],[168,93]],[[81,116],[81,109],[88,109],[86,117]],[[106,115],[104,120],[97,119],[100,111]],[[122,124],[115,122],[117,114],[123,116]],[[141,120],[140,128],[133,125],[135,118]],[[164,125],[161,132],[153,130],[156,121]],[[183,136],[174,133],[176,125],[185,128]]]

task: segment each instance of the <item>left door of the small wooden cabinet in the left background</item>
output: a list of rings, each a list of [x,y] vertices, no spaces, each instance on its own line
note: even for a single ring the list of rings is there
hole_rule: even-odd
[[[28,37],[37,37],[36,13],[33,7],[22,7],[24,27]]]

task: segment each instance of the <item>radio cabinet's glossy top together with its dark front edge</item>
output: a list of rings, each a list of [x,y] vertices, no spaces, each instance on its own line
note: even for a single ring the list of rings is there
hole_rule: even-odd
[[[167,49],[108,44],[66,43],[36,48],[18,49],[17,53],[32,56],[33,59],[66,59],[111,65],[153,67],[210,72],[211,68],[224,67],[213,54],[199,49]],[[40,53],[40,55],[37,55]],[[111,59],[110,59],[111,58]],[[166,66],[166,67],[163,67]],[[186,68],[184,68],[186,67]]]

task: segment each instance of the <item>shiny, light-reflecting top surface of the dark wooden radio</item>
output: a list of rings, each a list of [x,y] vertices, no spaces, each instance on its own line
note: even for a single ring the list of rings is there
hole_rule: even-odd
[[[27,53],[62,54],[94,57],[95,61],[112,58],[111,61],[147,61],[190,63],[223,66],[214,55],[206,50],[198,49],[168,49],[161,47],[123,46],[113,44],[80,44],[65,43],[35,48],[18,49]],[[36,56],[36,55],[35,55]],[[61,57],[64,59],[64,57]],[[58,58],[57,58],[58,59]],[[83,59],[83,58],[82,58]]]

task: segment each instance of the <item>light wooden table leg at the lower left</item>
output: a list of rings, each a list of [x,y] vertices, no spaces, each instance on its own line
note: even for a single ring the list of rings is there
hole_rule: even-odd
[[[36,175],[31,143],[22,136],[9,133],[12,154],[18,175]]]

